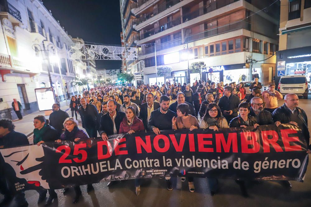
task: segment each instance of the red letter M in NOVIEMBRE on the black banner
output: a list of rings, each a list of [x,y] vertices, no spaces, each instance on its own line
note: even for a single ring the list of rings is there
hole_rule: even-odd
[[[215,134],[216,138],[216,152],[221,152],[221,146],[224,148],[224,152],[230,152],[232,144],[232,152],[238,152],[238,138],[237,133],[229,133],[228,140],[226,142],[224,134]]]

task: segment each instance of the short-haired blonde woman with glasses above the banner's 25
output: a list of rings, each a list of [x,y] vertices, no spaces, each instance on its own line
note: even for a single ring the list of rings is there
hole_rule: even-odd
[[[55,142],[62,142],[62,141],[72,141],[72,142],[78,142],[80,140],[86,140],[89,137],[87,134],[82,130],[78,128],[78,121],[73,118],[67,118],[64,121],[64,127],[65,132],[60,136],[60,139],[57,139]],[[76,204],[79,201],[80,196],[82,195],[80,186],[73,187],[76,195],[73,199],[73,203]],[[92,184],[87,185],[87,192],[91,192],[94,190]],[[68,188],[64,189],[64,194],[68,191]],[[52,202],[52,201],[51,201]]]

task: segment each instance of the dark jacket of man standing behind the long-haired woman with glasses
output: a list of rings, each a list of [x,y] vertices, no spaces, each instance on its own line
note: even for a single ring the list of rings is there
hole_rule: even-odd
[[[223,96],[219,99],[218,106],[220,107],[221,113],[224,115],[228,122],[230,122],[234,117],[238,116],[238,106],[240,103],[241,101],[239,97],[234,96],[233,94],[231,94],[229,98]],[[232,110],[233,113],[231,115],[225,115],[224,110]]]

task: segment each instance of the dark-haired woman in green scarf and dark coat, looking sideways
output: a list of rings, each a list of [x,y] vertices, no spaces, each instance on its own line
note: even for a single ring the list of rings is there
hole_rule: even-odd
[[[49,119],[45,119],[44,116],[39,115],[34,118],[34,144],[40,145],[44,142],[54,142],[55,139],[59,138],[58,131],[49,125]],[[47,190],[37,190],[39,193],[38,203],[45,200]],[[53,199],[57,199],[57,194],[53,189],[49,189],[49,198],[45,205],[50,205]]]

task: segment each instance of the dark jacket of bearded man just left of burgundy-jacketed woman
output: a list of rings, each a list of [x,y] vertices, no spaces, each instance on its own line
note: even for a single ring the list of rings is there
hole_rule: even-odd
[[[114,134],[114,124],[117,129],[117,133],[119,133],[120,124],[123,121],[123,118],[125,117],[125,113],[116,110],[116,117],[114,118],[114,123],[112,122],[112,119],[110,118],[109,113],[102,115],[100,118],[100,127],[98,129],[99,134],[106,133],[107,136]]]

